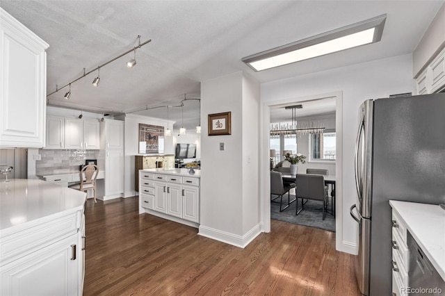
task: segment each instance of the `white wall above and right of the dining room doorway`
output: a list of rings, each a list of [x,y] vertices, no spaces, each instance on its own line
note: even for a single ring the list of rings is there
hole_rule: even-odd
[[[414,93],[414,90],[410,54],[261,85],[261,101],[265,104],[293,98],[298,101],[300,97],[327,92],[343,93],[342,117],[340,118],[343,122],[341,124],[343,178],[337,180],[340,183],[337,183],[337,186],[342,188],[342,195],[337,195],[337,249],[340,251],[357,252],[357,223],[350,217],[349,207],[355,203],[356,199],[354,150],[359,105],[366,99],[388,97],[389,94],[404,92]],[[266,152],[268,154],[268,151],[264,153]],[[268,159],[268,155],[264,158]],[[339,205],[341,206],[338,207]]]

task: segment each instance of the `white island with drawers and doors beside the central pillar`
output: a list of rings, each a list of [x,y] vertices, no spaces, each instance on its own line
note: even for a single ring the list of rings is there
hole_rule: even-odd
[[[139,213],[149,213],[198,228],[200,170],[148,169],[139,171]]]

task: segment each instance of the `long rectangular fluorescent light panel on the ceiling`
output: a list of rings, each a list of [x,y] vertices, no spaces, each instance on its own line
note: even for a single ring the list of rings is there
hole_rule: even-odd
[[[380,15],[373,19],[263,51],[241,60],[258,72],[378,42],[382,39],[385,20],[386,15]]]

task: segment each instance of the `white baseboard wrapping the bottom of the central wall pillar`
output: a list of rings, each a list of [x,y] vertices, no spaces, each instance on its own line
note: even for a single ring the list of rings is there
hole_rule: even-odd
[[[257,224],[250,231],[245,233],[243,236],[238,236],[233,233],[229,233],[226,231],[221,231],[218,229],[213,229],[211,227],[205,227],[200,225],[199,232],[197,233],[200,236],[205,236],[206,238],[211,238],[212,240],[218,240],[220,242],[225,242],[229,245],[234,245],[235,247],[245,248],[249,245],[254,238],[259,236],[261,233],[261,224]]]

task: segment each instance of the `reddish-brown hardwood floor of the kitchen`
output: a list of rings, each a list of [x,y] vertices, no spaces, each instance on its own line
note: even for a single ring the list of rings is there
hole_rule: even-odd
[[[138,199],[86,205],[83,295],[359,295],[335,233],[271,220],[241,249],[138,214]]]

